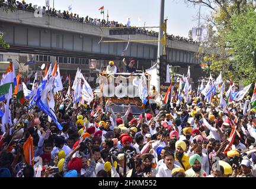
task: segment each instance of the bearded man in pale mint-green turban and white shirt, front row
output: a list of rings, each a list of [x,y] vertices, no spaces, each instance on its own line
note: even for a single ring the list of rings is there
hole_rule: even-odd
[[[206,177],[206,172],[201,170],[201,157],[194,154],[189,158],[191,168],[185,171],[185,177]]]

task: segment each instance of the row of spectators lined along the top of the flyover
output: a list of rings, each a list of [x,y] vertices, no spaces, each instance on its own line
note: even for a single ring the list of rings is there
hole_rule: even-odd
[[[17,8],[20,10],[24,11],[30,11],[34,12],[36,11],[37,7],[33,6],[31,3],[27,4],[24,0],[22,2],[16,1],[15,0],[8,0],[5,2],[4,0],[0,1],[0,7],[1,6],[7,6],[8,8]],[[90,18],[90,17],[81,17],[78,14],[73,14],[72,12],[69,11],[57,11],[55,8],[49,8],[49,10],[46,8],[46,6],[43,6],[42,9],[42,14],[43,15],[50,15],[52,17],[58,17],[58,18],[63,18],[63,19],[71,19],[72,21],[77,21],[77,22],[82,22],[82,23],[87,23],[87,24],[93,24],[97,25],[99,27],[130,27],[130,25],[127,24],[121,24],[117,21],[108,21],[105,19],[98,19],[98,18]],[[158,32],[153,31],[153,30],[146,30],[146,28],[137,28],[136,32],[139,34],[145,34],[145,35],[150,35],[154,37],[158,37]],[[168,40],[172,41],[182,41],[185,43],[192,43],[194,44],[195,41],[193,41],[192,38],[185,38],[181,37],[179,35],[167,35]]]

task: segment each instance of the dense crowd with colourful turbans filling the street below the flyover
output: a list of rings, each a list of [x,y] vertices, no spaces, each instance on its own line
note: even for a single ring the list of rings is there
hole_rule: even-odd
[[[256,176],[256,110],[245,108],[249,96],[222,110],[219,94],[207,102],[192,90],[189,100],[157,103],[158,94],[149,89],[135,116],[131,105],[114,113],[111,99],[96,93],[90,103],[73,101],[75,92],[64,87],[54,95],[57,122],[13,96],[12,124],[2,125],[0,114],[0,177]]]

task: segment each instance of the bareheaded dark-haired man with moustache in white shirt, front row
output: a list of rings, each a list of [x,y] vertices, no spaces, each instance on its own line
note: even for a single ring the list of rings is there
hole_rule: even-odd
[[[156,177],[172,177],[172,170],[174,168],[180,168],[180,166],[175,165],[175,157],[171,151],[164,152],[164,164],[160,165],[158,168],[158,173]]]

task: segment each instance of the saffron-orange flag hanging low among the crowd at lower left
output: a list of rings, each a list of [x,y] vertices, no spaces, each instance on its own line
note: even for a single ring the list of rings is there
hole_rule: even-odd
[[[27,164],[34,166],[34,145],[33,137],[31,135],[23,145],[23,153]]]

